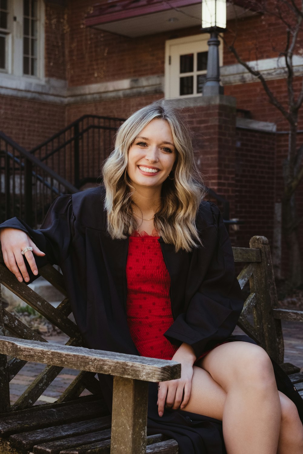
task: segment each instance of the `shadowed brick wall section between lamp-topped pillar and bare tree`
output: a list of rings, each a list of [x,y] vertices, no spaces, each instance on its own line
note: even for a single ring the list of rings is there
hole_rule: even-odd
[[[235,233],[237,246],[262,235],[273,245],[275,202],[275,134],[236,129],[235,214],[243,225]]]

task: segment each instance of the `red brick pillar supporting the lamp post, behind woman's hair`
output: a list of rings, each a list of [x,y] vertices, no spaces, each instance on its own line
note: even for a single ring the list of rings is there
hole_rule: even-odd
[[[234,217],[236,99],[219,95],[167,102],[182,109],[193,132],[196,163],[204,183],[228,200],[230,217]]]

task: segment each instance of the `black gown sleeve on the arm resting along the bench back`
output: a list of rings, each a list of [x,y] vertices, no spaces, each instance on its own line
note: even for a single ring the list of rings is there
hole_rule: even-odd
[[[11,227],[27,233],[40,251],[45,252],[45,257],[35,256],[39,267],[47,262],[60,265],[65,260],[74,234],[74,222],[72,197],[63,195],[52,203],[40,229],[32,229],[19,217],[8,219],[0,224],[0,228]]]

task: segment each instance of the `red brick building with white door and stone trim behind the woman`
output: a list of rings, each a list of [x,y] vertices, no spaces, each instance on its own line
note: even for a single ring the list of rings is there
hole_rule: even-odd
[[[247,246],[253,234],[267,236],[283,277],[280,201],[288,124],[223,43],[224,95],[203,96],[209,35],[201,33],[200,17],[198,0],[0,0],[0,131],[30,151],[83,115],[126,118],[154,100],[172,99],[193,131],[205,183],[228,200],[230,217],[243,221],[231,229],[233,243]],[[257,61],[273,94],[286,99],[285,65],[278,58],[285,25],[242,0],[228,5],[227,17],[225,39],[231,42],[236,33],[241,58]],[[88,142],[82,160],[97,177],[92,147]],[[63,160],[53,155],[48,165],[66,168],[74,151],[64,148]],[[63,177],[75,184],[71,174]]]

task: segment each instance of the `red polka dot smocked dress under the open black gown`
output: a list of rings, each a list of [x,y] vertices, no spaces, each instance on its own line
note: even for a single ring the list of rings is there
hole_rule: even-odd
[[[141,356],[171,360],[177,347],[164,333],[174,322],[169,297],[170,276],[159,236],[153,232],[129,237],[126,265],[127,322]]]

